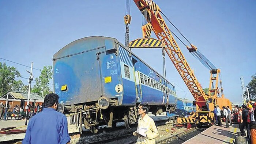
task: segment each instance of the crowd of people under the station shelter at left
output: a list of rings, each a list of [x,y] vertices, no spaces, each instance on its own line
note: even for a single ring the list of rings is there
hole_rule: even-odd
[[[0,120],[4,120],[5,107],[6,107],[6,105],[3,104],[3,102],[1,102],[0,103]],[[41,112],[43,108],[44,108],[43,104],[42,105],[37,104],[35,107],[33,105],[29,104],[29,107],[28,107],[29,117],[28,118],[30,119],[35,114]],[[23,106],[20,107],[19,105],[15,105],[14,108],[11,110],[10,105],[7,105],[5,120],[8,120],[8,117],[25,116],[25,113],[26,112],[24,112]]]

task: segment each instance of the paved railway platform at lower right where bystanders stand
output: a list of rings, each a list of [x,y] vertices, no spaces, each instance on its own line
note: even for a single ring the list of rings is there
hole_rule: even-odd
[[[237,132],[240,132],[238,124],[225,128],[222,123],[222,126],[213,125],[183,144],[234,144]]]

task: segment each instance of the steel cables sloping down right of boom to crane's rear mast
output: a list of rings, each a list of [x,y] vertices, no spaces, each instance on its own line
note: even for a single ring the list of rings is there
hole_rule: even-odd
[[[160,11],[161,12],[161,11]],[[189,50],[189,52],[196,57],[197,60],[200,61],[200,63],[202,63],[207,69],[212,70],[212,69],[217,69],[210,60],[208,60],[206,58],[206,56],[203,55],[203,53],[195,46],[193,46],[188,39],[178,30],[178,28],[163,14],[163,12],[161,12],[162,15],[173,25],[173,27],[182,35],[182,37],[184,37],[184,39],[191,45],[191,48],[188,47],[180,38],[178,38],[172,31],[172,34],[174,36],[176,36],[178,38],[178,40],[181,41],[181,43],[183,43],[187,49]],[[169,29],[170,30],[170,29]]]

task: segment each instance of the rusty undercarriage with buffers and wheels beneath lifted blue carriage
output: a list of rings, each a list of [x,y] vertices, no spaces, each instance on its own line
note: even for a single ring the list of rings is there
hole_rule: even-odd
[[[92,133],[98,132],[98,126],[107,125],[108,128],[116,127],[117,122],[124,122],[127,129],[130,125],[138,122],[139,103],[134,106],[118,105],[117,99],[108,99],[102,96],[94,103],[58,105],[58,111],[65,114],[74,115],[75,126],[82,134],[82,124]],[[150,105],[152,114],[160,114],[165,111],[173,112],[176,105]]]

